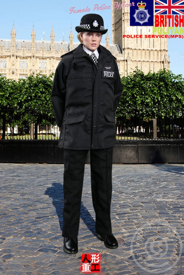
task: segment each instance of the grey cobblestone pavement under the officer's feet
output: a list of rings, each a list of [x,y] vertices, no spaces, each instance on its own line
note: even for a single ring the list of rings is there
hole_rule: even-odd
[[[103,275],[184,274],[184,165],[113,165],[112,225],[119,247],[96,238],[86,165],[79,252],[63,252],[63,165],[0,164],[0,274],[78,275],[101,253]]]

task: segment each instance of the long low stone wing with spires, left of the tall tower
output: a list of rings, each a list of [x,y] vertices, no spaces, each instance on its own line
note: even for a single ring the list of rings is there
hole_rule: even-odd
[[[69,35],[69,42],[55,41],[55,34],[52,27],[50,41],[36,41],[36,33],[33,30],[31,40],[16,40],[16,32],[13,25],[11,39],[0,40],[0,74],[7,78],[18,80],[25,79],[30,74],[36,75],[42,72],[49,76],[56,71],[56,67],[61,60],[60,56],[76,48],[80,42],[74,42],[72,29]],[[121,55],[116,45],[109,44],[109,34],[106,35],[106,44],[114,56]]]

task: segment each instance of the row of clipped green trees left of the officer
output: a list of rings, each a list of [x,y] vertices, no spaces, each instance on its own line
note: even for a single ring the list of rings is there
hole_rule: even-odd
[[[12,126],[35,124],[35,139],[37,139],[37,125],[54,123],[54,112],[51,103],[52,76],[30,75],[18,82],[0,77],[0,107],[3,117],[3,135],[5,138],[6,123]],[[13,127],[12,127],[13,129]],[[13,133],[12,133],[13,136]]]

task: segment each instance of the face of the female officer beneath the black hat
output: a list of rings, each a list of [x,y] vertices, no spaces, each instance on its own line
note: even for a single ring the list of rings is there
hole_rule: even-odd
[[[80,34],[80,38],[84,46],[91,52],[94,52],[100,45],[102,33],[85,32]]]

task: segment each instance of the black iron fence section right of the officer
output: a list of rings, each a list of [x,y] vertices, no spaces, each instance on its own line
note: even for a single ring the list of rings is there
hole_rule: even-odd
[[[132,108],[117,118],[117,139],[183,139],[181,108]]]

